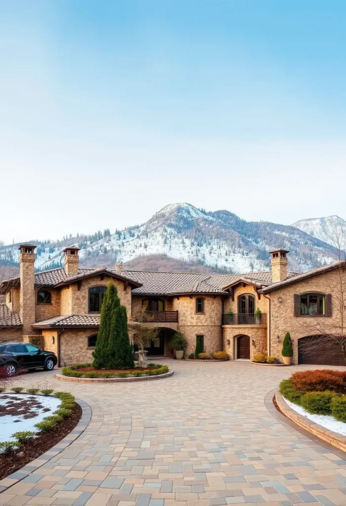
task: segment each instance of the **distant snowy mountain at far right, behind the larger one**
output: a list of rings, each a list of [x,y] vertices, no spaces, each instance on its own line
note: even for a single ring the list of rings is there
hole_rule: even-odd
[[[299,228],[303,232],[333,246],[335,246],[336,240],[346,237],[346,221],[336,215],[299,220],[292,223],[292,227]]]

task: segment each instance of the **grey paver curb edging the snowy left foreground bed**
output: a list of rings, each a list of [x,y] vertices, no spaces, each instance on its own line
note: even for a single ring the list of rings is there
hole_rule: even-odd
[[[7,476],[0,480],[0,494],[5,492],[5,490],[11,488],[13,485],[18,483],[19,481],[24,480],[27,476],[29,476],[33,471],[43,466],[46,462],[52,460],[52,458],[56,457],[64,451],[71,443],[73,443],[87,428],[91,420],[91,408],[89,404],[86,402],[75,399],[75,402],[80,405],[82,409],[82,416],[76,427],[65,436],[61,441],[59,441],[55,446],[47,450],[46,452],[39,455],[34,460],[18,469],[11,475]]]

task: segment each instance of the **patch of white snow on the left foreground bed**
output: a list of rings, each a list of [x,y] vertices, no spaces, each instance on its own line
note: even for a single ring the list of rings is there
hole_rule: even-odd
[[[35,424],[38,424],[39,421],[42,421],[43,418],[47,416],[51,416],[56,409],[61,404],[61,400],[57,399],[57,397],[44,396],[44,395],[30,395],[30,394],[15,394],[12,392],[4,393],[0,395],[0,405],[5,405],[9,399],[4,397],[11,396],[11,400],[13,399],[14,403],[20,403],[23,400],[27,400],[29,397],[35,397],[37,401],[42,404],[41,408],[35,407],[31,408],[31,410],[36,411],[36,416],[33,418],[24,418],[24,414],[16,414],[16,415],[5,415],[0,416],[0,441],[16,441],[15,438],[11,437],[15,432],[21,431],[31,431],[37,432],[37,429],[34,427]],[[48,408],[50,411],[43,411],[43,409]],[[20,420],[14,423],[15,420]]]

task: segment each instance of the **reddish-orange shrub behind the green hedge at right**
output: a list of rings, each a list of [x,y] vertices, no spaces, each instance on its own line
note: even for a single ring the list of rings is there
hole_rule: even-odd
[[[312,371],[294,372],[291,376],[294,388],[305,392],[338,392],[346,393],[346,372],[332,369],[315,369]]]

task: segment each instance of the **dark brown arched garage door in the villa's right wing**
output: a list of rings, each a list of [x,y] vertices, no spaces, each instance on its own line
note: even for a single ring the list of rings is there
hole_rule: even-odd
[[[331,352],[333,352],[331,354]],[[309,335],[298,340],[298,363],[316,365],[346,365],[337,346],[326,345],[321,335]]]

